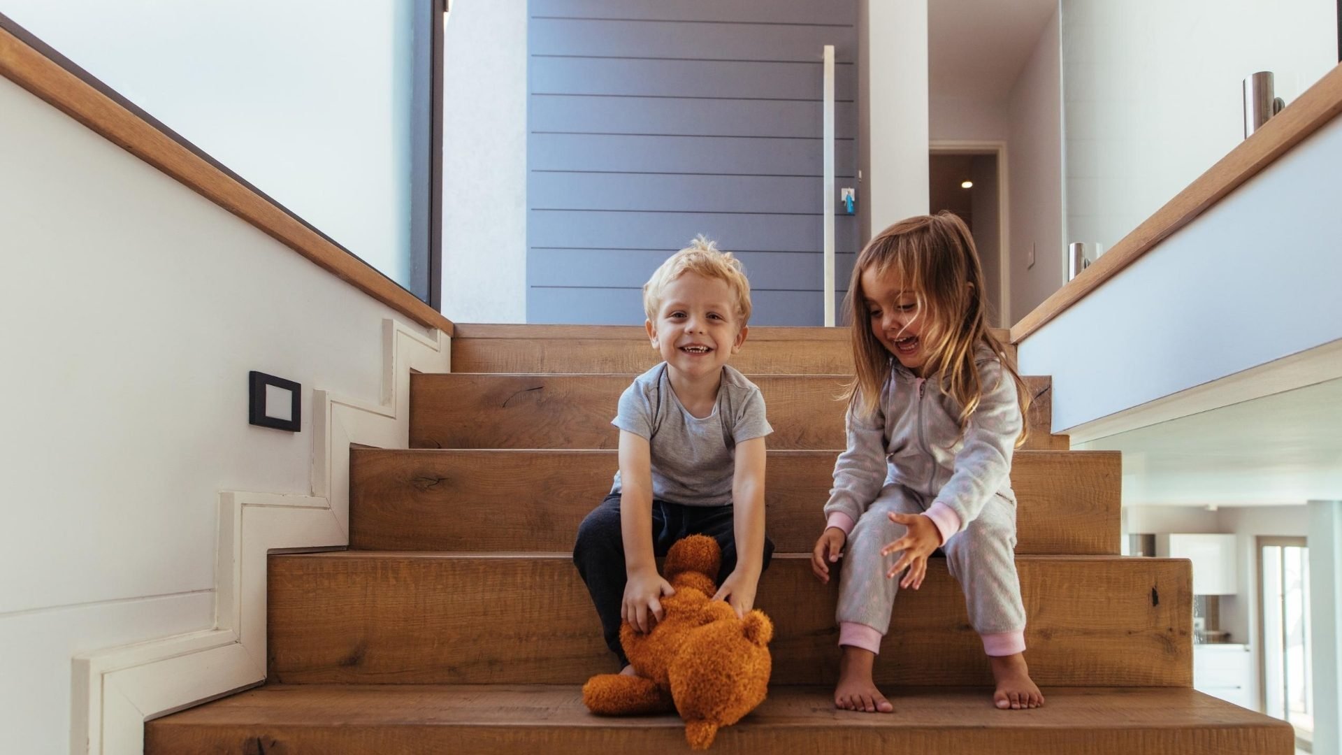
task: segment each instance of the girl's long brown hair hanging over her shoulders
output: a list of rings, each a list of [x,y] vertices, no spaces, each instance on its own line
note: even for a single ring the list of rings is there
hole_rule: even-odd
[[[1024,419],[1025,410],[1029,408],[1029,391],[1013,360],[1007,356],[1002,343],[988,329],[988,296],[974,239],[965,222],[946,211],[900,220],[867,242],[858,255],[844,300],[856,378],[848,384],[843,398],[854,411],[862,416],[876,411],[880,388],[890,378],[894,359],[871,332],[867,301],[862,292],[862,274],[868,269],[875,269],[878,275],[895,274],[914,289],[917,317],[927,318],[919,336],[927,352],[923,373],[934,378],[931,383],[961,406],[961,433],[984,395],[984,386],[974,367],[974,349],[978,344],[986,344],[1016,382],[1016,396]],[[1024,442],[1023,423],[1016,445]]]

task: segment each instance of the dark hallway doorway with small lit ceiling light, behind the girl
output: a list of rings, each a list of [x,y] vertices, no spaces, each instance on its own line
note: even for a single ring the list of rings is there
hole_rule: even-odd
[[[1007,152],[1000,142],[934,142],[927,156],[929,210],[960,215],[974,238],[988,287],[988,325],[1011,322],[1007,296]]]

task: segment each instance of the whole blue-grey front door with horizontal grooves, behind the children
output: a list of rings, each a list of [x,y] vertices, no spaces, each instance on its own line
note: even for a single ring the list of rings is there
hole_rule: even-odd
[[[639,322],[643,282],[702,232],[745,261],[754,324],[819,325],[820,56],[833,44],[840,62],[836,188],[851,187],[856,9],[530,0],[527,320]],[[840,289],[856,243],[839,215]]]

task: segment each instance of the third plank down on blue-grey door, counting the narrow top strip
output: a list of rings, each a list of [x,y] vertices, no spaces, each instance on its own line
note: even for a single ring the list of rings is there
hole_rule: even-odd
[[[821,98],[821,85],[824,83],[820,66],[625,58],[533,58],[530,79],[531,94],[636,94],[644,97],[815,101]],[[835,98],[851,101],[856,79],[855,75],[835,77]]]

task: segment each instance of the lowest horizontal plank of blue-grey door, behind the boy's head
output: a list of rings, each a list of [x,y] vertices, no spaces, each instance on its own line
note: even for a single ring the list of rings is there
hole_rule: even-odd
[[[819,292],[758,290],[752,292],[750,305],[752,325],[807,326],[824,317]],[[531,287],[526,306],[531,322],[641,325],[647,318],[641,289]],[[533,317],[531,312],[538,314]],[[750,348],[749,340],[743,348]]]

